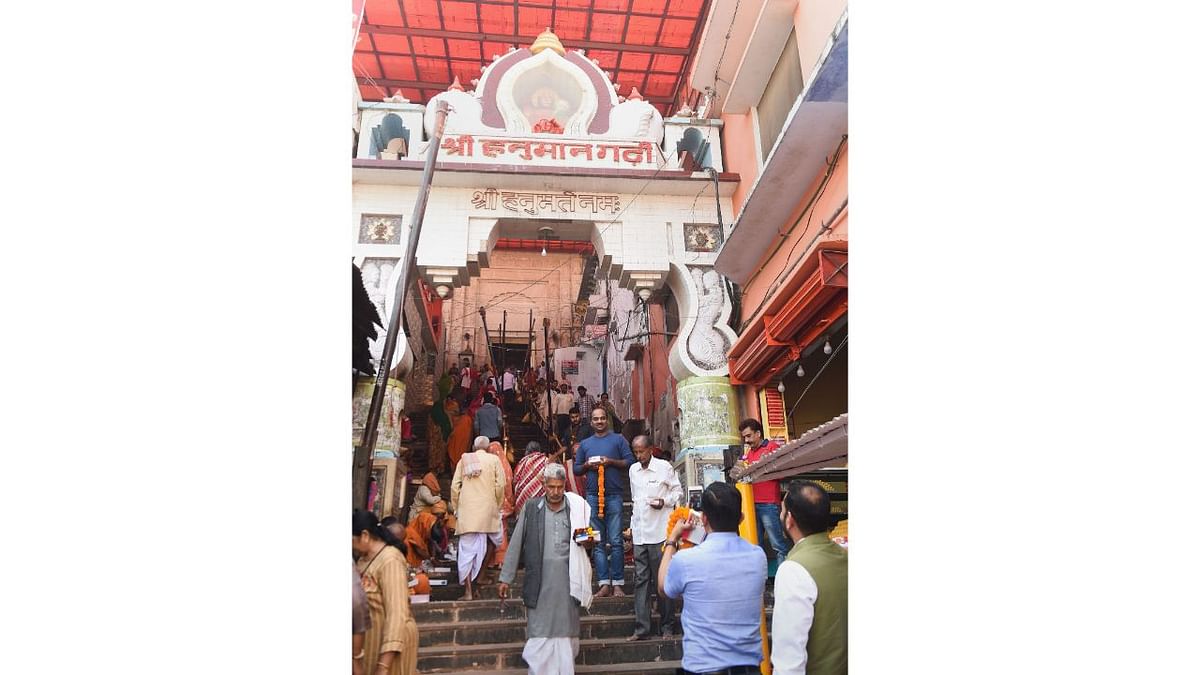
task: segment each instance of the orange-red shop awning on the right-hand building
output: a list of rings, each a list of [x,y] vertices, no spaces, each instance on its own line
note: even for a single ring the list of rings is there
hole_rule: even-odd
[[[762,315],[730,348],[733,384],[762,386],[848,311],[850,252],[845,240],[817,244],[787,276]]]

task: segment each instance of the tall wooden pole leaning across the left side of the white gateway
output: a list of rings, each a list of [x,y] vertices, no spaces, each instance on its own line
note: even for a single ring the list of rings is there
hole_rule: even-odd
[[[416,241],[421,238],[421,225],[425,222],[425,207],[430,199],[430,185],[433,183],[433,165],[438,159],[438,148],[442,145],[442,130],[446,123],[446,110],[449,106],[445,101],[439,101],[437,107],[437,124],[433,126],[433,137],[430,138],[430,147],[425,151],[425,172],[421,174],[421,187],[416,193],[416,204],[413,207],[413,222],[408,229],[408,243],[404,247],[404,257],[400,261],[400,269],[396,270],[396,293],[391,304],[391,312],[388,319],[388,339],[383,344],[383,354],[379,357],[379,368],[376,372],[374,390],[371,393],[371,408],[367,411],[366,428],[362,430],[362,442],[354,448],[354,472],[352,495],[354,508],[367,508],[367,495],[371,485],[371,456],[374,454],[376,441],[379,437],[379,416],[383,412],[383,400],[388,394],[388,376],[391,374],[391,357],[396,351],[396,341],[400,335],[401,315],[404,311],[404,300],[408,295],[408,286],[413,270],[416,268]],[[380,490],[380,494],[383,490]]]

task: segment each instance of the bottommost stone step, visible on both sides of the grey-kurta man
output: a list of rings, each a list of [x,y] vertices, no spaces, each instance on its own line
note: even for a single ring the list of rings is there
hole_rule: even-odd
[[[521,658],[524,639],[502,644],[420,646],[416,668],[421,673],[462,673],[468,670],[523,669]],[[581,639],[577,665],[602,667],[595,673],[611,673],[613,664],[637,663],[643,671],[647,662],[679,661],[683,643],[679,638],[650,638],[626,643],[624,637]],[[576,670],[577,673],[580,670]]]

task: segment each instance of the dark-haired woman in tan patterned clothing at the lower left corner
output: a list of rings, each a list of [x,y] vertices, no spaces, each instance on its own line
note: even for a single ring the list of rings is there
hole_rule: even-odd
[[[371,628],[362,652],[354,655],[372,675],[416,673],[416,622],[408,599],[404,544],[368,510],[354,512],[350,545],[367,596]]]

